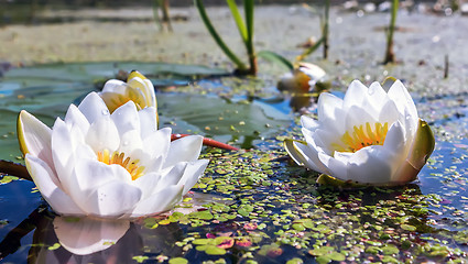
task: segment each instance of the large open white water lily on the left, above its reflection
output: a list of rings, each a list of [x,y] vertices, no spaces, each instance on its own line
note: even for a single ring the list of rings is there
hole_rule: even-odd
[[[129,101],[109,113],[96,94],[68,108],[52,129],[21,111],[20,147],[35,185],[63,216],[130,219],[171,209],[205,170],[203,138],[171,142],[154,108]]]

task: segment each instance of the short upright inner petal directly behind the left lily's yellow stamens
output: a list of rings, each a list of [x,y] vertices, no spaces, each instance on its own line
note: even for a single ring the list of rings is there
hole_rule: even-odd
[[[109,117],[101,118],[96,120],[89,128],[86,134],[86,143],[90,145],[96,153],[104,150],[113,152],[120,145],[119,131]]]

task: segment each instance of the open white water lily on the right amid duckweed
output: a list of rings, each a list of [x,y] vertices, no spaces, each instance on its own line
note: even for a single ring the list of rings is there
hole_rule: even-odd
[[[434,135],[418,119],[400,80],[385,92],[355,80],[345,99],[324,92],[318,120],[303,116],[305,142],[285,141],[297,164],[339,180],[373,185],[412,182],[434,150]]]

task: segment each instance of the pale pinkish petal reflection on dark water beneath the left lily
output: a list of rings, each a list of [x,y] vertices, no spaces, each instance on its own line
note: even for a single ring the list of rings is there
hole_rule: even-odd
[[[66,218],[56,217],[53,224],[62,246],[77,255],[88,255],[110,248],[130,228],[128,220],[104,221],[91,218],[67,221]]]

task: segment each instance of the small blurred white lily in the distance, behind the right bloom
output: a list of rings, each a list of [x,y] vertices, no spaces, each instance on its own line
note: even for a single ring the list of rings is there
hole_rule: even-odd
[[[285,74],[277,82],[279,90],[307,92],[324,78],[325,70],[315,64],[301,63],[293,72]]]

